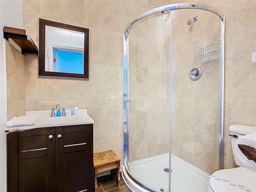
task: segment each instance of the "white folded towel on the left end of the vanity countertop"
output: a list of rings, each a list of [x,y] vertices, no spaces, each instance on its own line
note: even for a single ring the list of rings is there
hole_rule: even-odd
[[[26,126],[36,124],[37,115],[14,116],[6,124],[6,127]]]

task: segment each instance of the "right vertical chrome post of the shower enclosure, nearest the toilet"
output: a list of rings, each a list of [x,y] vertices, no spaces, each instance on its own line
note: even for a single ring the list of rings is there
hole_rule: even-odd
[[[224,71],[225,71],[225,16],[223,20],[220,22],[221,24],[221,36],[220,36],[220,75],[221,75],[221,83],[220,83],[220,149],[219,149],[219,169],[223,169],[223,158],[224,158],[224,143],[223,143],[223,132],[224,132]]]

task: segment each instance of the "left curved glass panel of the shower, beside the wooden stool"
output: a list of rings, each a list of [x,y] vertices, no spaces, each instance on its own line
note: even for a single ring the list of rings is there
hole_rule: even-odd
[[[138,21],[128,47],[128,172],[148,188],[167,191],[170,11]]]

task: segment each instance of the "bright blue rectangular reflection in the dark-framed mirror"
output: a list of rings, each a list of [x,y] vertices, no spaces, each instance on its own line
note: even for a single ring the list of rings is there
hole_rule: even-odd
[[[53,48],[53,71],[84,74],[84,53],[76,50]]]

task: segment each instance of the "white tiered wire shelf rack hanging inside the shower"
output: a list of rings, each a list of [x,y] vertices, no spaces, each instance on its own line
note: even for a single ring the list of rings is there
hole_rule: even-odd
[[[207,44],[207,41],[211,41],[213,43]],[[209,36],[206,36],[201,38],[200,40],[197,40],[194,43],[194,46],[199,47],[199,49],[195,50],[194,54],[201,55],[202,57],[196,58],[195,62],[204,63],[204,62],[208,62],[208,61],[212,61],[220,58],[220,56],[209,54],[211,52],[220,50],[220,48],[213,46],[215,44],[218,44],[219,42],[220,41],[216,41],[213,38],[210,38]]]

